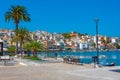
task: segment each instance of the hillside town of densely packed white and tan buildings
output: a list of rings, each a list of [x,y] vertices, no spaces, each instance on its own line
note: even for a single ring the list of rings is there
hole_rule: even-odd
[[[66,34],[69,37],[66,37]],[[12,37],[15,35],[13,30],[0,29],[0,41],[3,41],[3,47],[7,48],[10,45],[15,45],[11,42]],[[31,32],[31,38],[35,41],[40,41],[44,47],[49,50],[95,50],[96,49],[96,35],[90,36],[88,34],[80,34],[77,32],[70,33],[49,33],[46,31],[37,30]],[[120,47],[119,37],[107,37],[98,35],[98,48],[99,50],[113,50]]]

